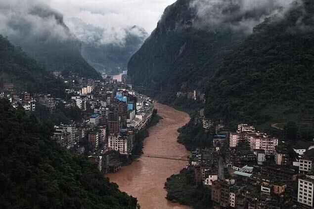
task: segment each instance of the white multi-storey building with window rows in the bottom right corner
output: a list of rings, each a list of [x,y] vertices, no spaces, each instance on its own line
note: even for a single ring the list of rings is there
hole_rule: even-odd
[[[301,177],[298,180],[298,203],[313,207],[313,176]]]

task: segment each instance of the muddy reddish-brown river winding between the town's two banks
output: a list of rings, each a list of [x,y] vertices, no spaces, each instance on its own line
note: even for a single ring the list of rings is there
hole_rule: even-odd
[[[177,142],[177,129],[188,123],[188,114],[159,103],[155,103],[155,108],[163,119],[149,128],[149,137],[144,140],[144,154],[188,156],[189,152]],[[136,197],[141,209],[189,209],[168,201],[164,189],[166,179],[186,165],[186,161],[140,157],[130,166],[107,176],[119,185],[121,191]]]

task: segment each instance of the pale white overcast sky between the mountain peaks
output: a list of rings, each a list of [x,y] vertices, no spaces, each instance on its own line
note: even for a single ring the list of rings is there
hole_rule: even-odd
[[[164,9],[176,0],[50,0],[68,18],[78,17],[103,28],[137,25],[151,33]]]

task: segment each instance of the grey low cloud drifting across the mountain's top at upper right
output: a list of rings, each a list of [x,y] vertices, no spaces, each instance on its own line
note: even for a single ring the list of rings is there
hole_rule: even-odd
[[[284,11],[294,0],[193,0],[197,27],[251,33],[266,17]]]

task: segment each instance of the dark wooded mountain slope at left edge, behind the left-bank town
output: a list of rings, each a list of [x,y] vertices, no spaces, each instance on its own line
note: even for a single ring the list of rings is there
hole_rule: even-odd
[[[14,83],[15,89],[64,94],[64,83],[45,71],[35,59],[0,35],[0,87]]]

